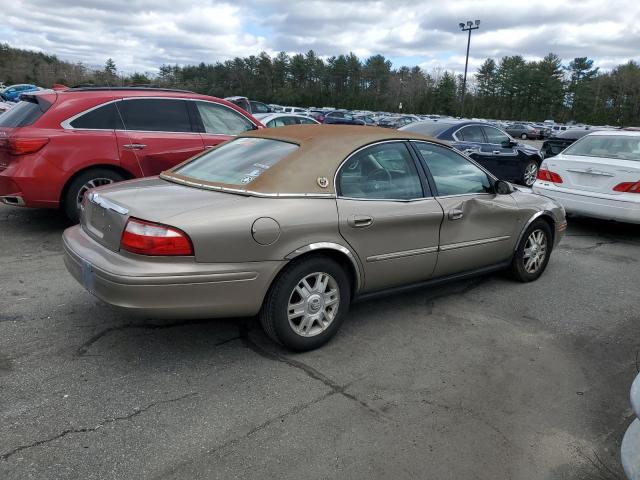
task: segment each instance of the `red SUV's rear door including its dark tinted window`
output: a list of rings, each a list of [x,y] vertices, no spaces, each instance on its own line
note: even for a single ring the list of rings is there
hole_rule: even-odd
[[[116,131],[120,161],[131,171],[158,175],[204,150],[186,100],[125,98],[116,106],[125,128]]]

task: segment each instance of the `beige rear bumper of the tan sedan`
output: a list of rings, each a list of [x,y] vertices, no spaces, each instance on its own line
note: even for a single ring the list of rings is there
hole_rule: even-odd
[[[193,257],[144,257],[112,252],[79,226],[64,232],[64,262],[100,300],[156,318],[256,315],[285,261],[197,263]]]

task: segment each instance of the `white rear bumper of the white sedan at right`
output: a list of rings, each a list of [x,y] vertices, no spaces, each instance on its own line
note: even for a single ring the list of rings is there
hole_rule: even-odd
[[[629,202],[612,198],[615,197],[614,195],[592,194],[575,190],[568,191],[568,189],[562,189],[550,184],[541,184],[539,181],[533,185],[533,191],[553,198],[568,213],[602,218],[604,220],[640,223],[640,198],[638,202]]]

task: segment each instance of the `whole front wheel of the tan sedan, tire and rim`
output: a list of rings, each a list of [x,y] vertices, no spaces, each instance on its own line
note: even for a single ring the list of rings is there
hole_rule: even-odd
[[[553,248],[551,228],[544,220],[534,221],[524,232],[511,261],[511,276],[520,282],[537,280],[547,268]]]

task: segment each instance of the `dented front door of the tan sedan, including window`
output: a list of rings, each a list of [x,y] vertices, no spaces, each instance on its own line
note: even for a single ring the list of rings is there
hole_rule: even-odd
[[[509,261],[522,225],[513,197],[496,194],[487,173],[455,151],[428,142],[411,143],[444,211],[434,277]]]

